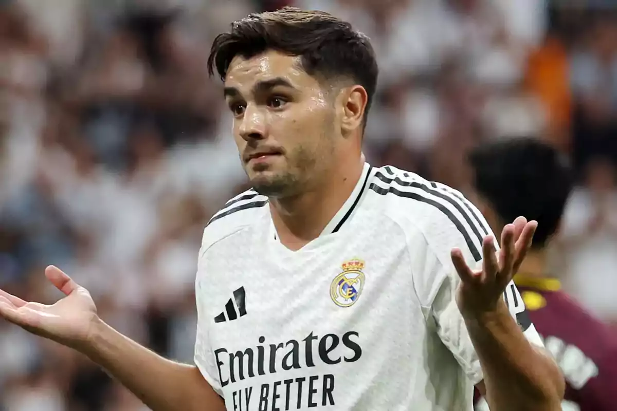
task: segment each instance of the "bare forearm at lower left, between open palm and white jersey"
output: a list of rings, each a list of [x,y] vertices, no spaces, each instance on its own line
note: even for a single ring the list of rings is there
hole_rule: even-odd
[[[80,347],[154,411],[224,410],[197,367],[167,360],[98,320]],[[210,407],[209,405],[213,406]]]

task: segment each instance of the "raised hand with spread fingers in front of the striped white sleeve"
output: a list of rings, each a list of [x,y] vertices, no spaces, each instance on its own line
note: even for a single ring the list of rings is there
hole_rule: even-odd
[[[494,238],[490,235],[484,237],[480,271],[470,269],[461,250],[452,250],[452,262],[462,280],[458,285],[456,299],[463,317],[476,317],[497,309],[505,287],[518,271],[531,246],[536,227],[536,221],[528,222],[524,217],[503,227],[499,258]]]

